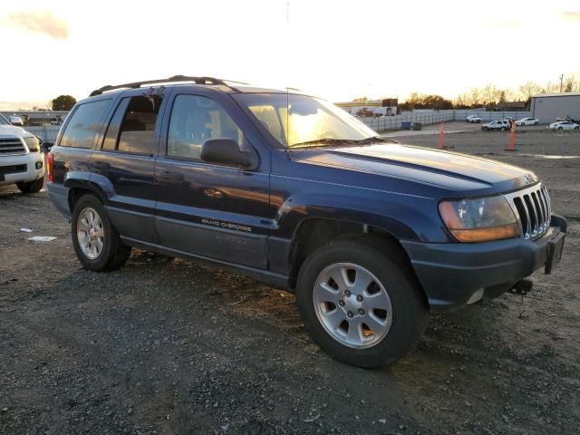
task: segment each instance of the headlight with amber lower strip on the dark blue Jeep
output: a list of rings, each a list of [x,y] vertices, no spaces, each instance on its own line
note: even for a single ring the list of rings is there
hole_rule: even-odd
[[[519,234],[516,216],[504,197],[442,201],[439,212],[459,242],[488,242]]]

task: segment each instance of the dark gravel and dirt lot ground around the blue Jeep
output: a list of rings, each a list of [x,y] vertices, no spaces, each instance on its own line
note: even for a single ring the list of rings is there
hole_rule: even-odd
[[[247,277],[143,251],[82,270],[46,192],[0,188],[0,433],[579,433],[580,134],[518,131],[510,154],[470,130],[446,144],[545,180],[564,257],[523,300],[432,315],[383,370],[334,362],[293,295]]]

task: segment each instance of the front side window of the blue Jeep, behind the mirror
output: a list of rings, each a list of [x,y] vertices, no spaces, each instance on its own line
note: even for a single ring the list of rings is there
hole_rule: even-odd
[[[221,104],[197,95],[178,95],[169,119],[168,155],[199,159],[208,139],[232,139],[240,150],[248,147],[244,133]]]

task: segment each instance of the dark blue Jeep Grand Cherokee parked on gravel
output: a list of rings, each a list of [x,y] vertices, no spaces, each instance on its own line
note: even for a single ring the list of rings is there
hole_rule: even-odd
[[[427,316],[501,295],[562,254],[566,222],[536,175],[382,139],[299,92],[208,77],[105,86],[48,159],[82,266],[131,247],[295,289],[334,358],[395,361]]]

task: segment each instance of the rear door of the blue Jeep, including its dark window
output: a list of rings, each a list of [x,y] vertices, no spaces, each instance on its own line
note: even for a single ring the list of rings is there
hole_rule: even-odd
[[[159,149],[160,94],[124,93],[92,154],[92,179],[111,183],[107,212],[121,237],[158,243],[155,159]]]

